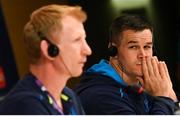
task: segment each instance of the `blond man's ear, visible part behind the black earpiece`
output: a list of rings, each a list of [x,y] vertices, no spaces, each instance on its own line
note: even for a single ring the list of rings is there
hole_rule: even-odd
[[[41,54],[42,54],[42,56],[44,58],[52,60],[54,58],[49,56],[49,54],[48,54],[48,47],[49,47],[48,42],[46,40],[42,40],[41,43],[40,43]]]

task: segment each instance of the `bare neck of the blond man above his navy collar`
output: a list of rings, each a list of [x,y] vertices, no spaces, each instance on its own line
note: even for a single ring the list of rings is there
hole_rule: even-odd
[[[51,64],[30,65],[30,72],[46,87],[47,91],[56,100],[59,107],[62,108],[60,95],[69,79],[65,75],[55,72]],[[62,73],[63,74],[63,73]]]

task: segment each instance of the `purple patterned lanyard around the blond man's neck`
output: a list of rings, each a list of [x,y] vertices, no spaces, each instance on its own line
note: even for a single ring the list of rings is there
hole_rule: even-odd
[[[58,106],[54,97],[47,91],[46,87],[38,80],[35,79],[36,84],[41,88],[41,90],[47,95],[49,103],[62,115],[64,115],[62,109]]]

